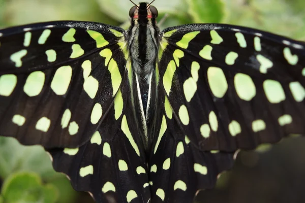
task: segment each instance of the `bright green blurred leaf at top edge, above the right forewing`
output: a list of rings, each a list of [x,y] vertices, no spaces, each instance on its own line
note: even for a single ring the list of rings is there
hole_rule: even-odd
[[[224,4],[221,0],[187,0],[188,13],[195,23],[220,23],[224,17]]]

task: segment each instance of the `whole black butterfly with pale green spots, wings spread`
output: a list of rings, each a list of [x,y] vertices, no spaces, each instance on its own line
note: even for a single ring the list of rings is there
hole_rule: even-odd
[[[161,31],[151,3],[128,30],[0,30],[0,134],[42,145],[96,202],[191,202],[236,150],[305,132],[304,43],[226,24]]]

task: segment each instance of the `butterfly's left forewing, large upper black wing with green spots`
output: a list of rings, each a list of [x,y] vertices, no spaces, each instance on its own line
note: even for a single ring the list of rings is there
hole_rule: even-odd
[[[88,141],[125,73],[123,31],[76,21],[2,30],[0,134],[46,148]]]

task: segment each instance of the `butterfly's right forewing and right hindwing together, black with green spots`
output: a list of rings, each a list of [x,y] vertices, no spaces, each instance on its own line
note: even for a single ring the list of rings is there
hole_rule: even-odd
[[[304,133],[304,47],[231,25],[165,29],[158,64],[163,114],[150,156],[152,198],[190,202],[232,167],[235,150]],[[163,168],[168,158],[171,170]]]

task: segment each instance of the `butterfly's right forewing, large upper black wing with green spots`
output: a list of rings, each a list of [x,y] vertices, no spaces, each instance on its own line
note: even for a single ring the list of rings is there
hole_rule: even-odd
[[[162,34],[160,81],[201,150],[253,149],[305,132],[304,44],[221,24]]]

